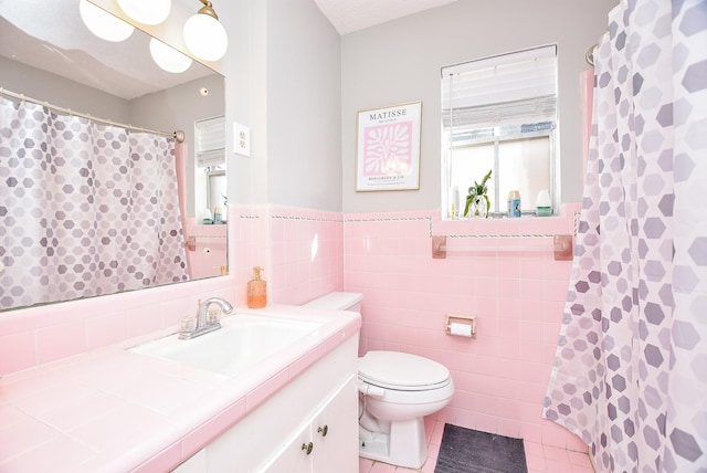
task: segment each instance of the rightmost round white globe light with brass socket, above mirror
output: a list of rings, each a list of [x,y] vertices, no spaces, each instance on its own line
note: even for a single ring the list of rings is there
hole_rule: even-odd
[[[204,61],[219,61],[229,46],[229,36],[211,2],[199,1],[203,7],[184,23],[184,43],[194,56]]]

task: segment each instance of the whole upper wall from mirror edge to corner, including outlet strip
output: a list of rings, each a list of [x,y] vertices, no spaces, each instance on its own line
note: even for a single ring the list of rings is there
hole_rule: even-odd
[[[230,123],[251,129],[251,156],[226,155],[229,201],[341,211],[338,33],[312,0],[219,8],[230,44],[228,149]]]

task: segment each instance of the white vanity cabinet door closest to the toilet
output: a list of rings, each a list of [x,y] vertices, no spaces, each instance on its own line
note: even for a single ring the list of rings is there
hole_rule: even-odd
[[[356,376],[312,422],[314,473],[358,473],[358,390]]]

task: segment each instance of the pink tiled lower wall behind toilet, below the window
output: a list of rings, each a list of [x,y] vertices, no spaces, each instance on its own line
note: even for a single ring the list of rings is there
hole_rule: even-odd
[[[572,209],[483,224],[441,222],[423,211],[345,216],[345,290],[363,293],[360,353],[402,349],[447,366],[456,395],[437,420],[535,442],[572,442],[540,417],[571,262],[555,261],[548,238],[449,239],[450,248],[465,250],[445,260],[432,259],[430,240],[431,233],[568,233]],[[518,250],[523,245],[530,250]],[[477,338],[445,335],[449,313],[476,315]]]

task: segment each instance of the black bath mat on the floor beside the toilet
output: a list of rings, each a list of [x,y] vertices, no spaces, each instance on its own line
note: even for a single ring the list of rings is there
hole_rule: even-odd
[[[523,440],[446,423],[434,473],[528,473]]]

